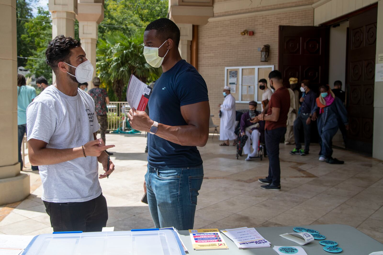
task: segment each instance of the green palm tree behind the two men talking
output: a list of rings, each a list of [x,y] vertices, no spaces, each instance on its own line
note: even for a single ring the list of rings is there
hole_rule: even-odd
[[[97,44],[97,73],[103,83],[112,88],[118,101],[125,101],[125,86],[134,74],[144,83],[155,81],[162,73],[146,63],[143,51],[143,31],[126,35],[120,31],[111,32]]]

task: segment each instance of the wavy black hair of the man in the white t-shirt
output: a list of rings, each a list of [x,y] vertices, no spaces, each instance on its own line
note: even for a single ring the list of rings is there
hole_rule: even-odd
[[[71,49],[80,46],[81,43],[78,40],[73,39],[72,37],[65,37],[64,35],[60,34],[54,37],[54,39],[49,42],[47,50],[45,52],[45,62],[53,70],[55,70],[59,62],[68,62],[68,59],[71,55]]]

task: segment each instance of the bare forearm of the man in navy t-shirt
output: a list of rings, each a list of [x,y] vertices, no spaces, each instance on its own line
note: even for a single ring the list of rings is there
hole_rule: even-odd
[[[208,141],[209,129],[205,130],[194,125],[168,126],[159,123],[155,135],[182,146],[203,147]]]

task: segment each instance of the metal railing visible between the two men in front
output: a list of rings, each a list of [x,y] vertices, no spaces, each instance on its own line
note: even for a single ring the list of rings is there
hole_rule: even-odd
[[[109,102],[108,108],[108,130],[117,130],[122,128],[124,120],[130,110],[128,102]]]

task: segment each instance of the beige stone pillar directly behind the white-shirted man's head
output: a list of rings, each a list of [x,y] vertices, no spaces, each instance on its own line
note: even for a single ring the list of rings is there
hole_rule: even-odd
[[[59,34],[74,38],[74,21],[77,14],[77,0],[49,0],[52,14],[52,39]],[[52,83],[56,76],[52,72]]]

